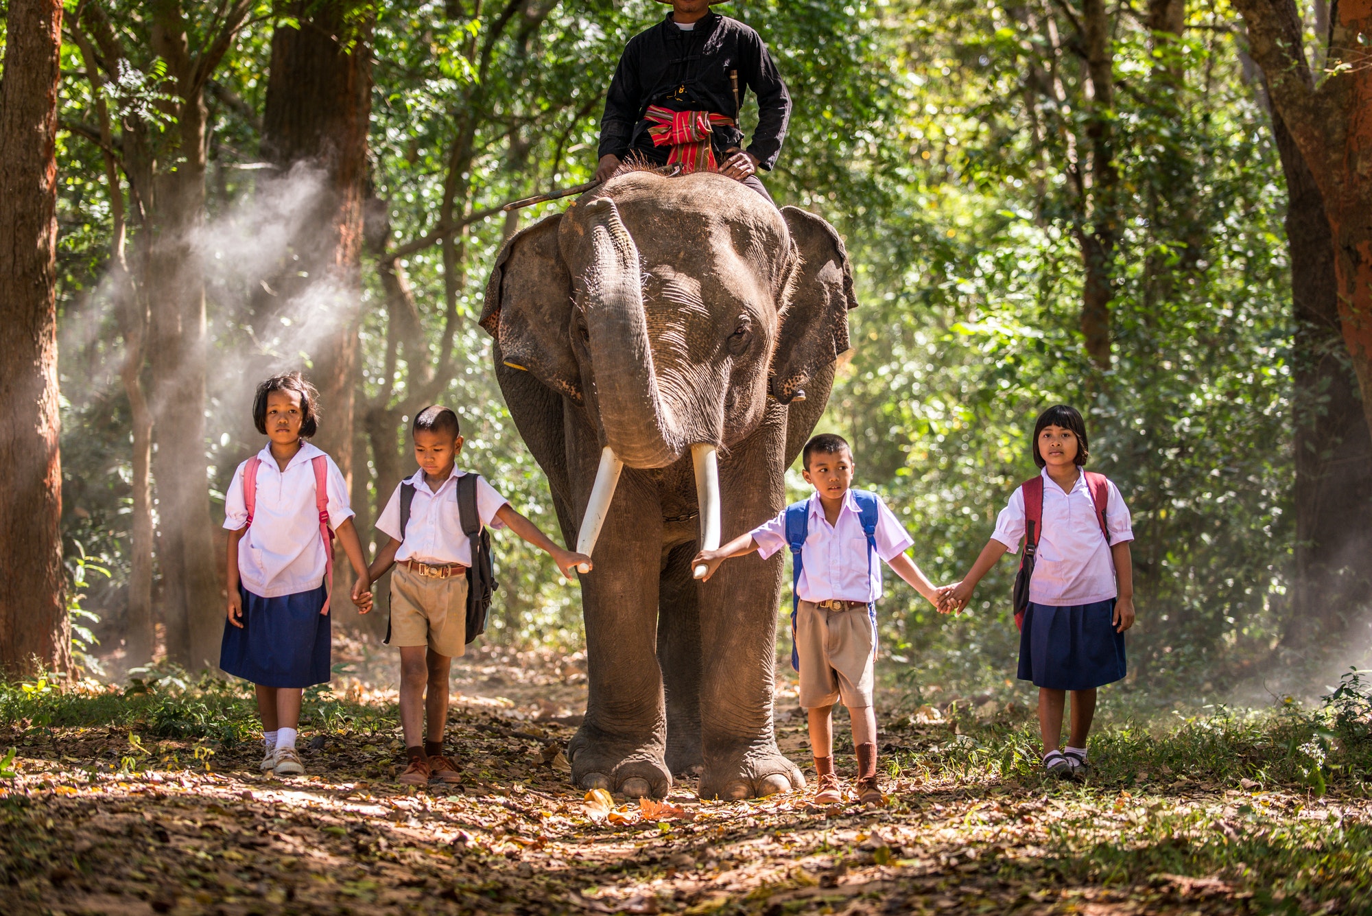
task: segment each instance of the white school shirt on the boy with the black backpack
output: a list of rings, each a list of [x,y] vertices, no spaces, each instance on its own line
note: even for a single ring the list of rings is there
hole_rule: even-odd
[[[453,468],[443,485],[434,492],[424,483],[424,469],[420,468],[413,476],[405,480],[414,484],[414,501],[410,503],[410,520],[405,525],[405,539],[395,559],[414,559],[421,564],[462,564],[472,565],[472,544],[462,533],[462,520],[457,514],[457,479],[466,474],[465,470]],[[495,488],[486,483],[486,477],[476,481],[476,514],[487,528],[504,528],[505,522],[495,517],[505,496],[495,492]],[[383,533],[395,540],[401,540],[401,487],[391,494],[391,501],[381,510],[381,517],[376,527]]]

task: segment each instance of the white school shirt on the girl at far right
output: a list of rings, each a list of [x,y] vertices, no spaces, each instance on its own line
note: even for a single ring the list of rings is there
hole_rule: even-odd
[[[1096,505],[1091,499],[1087,474],[1077,474],[1077,485],[1072,492],[1052,481],[1048,470],[1043,477],[1043,532],[1039,535],[1039,551],[1034,555],[1033,576],[1029,579],[1029,601],[1036,605],[1070,607],[1089,605],[1096,601],[1110,601],[1118,594],[1114,577],[1114,558],[1110,547],[1133,540],[1129,507],[1114,481],[1106,481],[1106,531],[1110,544],[1100,536],[1100,522],[1096,520]],[[991,535],[1010,549],[1019,551],[1025,536],[1025,494],[1024,487],[1015,487],[1010,494],[1010,505],[996,518],[996,531]]]

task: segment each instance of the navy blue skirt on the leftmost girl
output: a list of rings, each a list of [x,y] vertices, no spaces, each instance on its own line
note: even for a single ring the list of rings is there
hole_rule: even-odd
[[[243,617],[224,620],[220,668],[262,687],[313,687],[329,682],[329,617],[324,583],[311,591],[263,598],[239,586]]]

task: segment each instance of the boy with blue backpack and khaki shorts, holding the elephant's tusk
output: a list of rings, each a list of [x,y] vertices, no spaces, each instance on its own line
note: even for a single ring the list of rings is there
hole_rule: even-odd
[[[800,672],[800,705],[809,717],[809,743],[818,775],[815,802],[842,801],[834,773],[833,705],[848,708],[858,757],[858,799],[884,804],[877,778],[877,713],[873,709],[873,662],[877,654],[877,599],[881,566],[890,566],[915,591],[938,606],[938,591],[906,555],[914,542],[877,494],[851,490],[852,450],[842,436],[822,433],[801,453],[809,499],[788,506],[775,518],[718,550],[702,550],[705,579],[730,557],[756,550],[766,559],[790,547],[792,666]]]

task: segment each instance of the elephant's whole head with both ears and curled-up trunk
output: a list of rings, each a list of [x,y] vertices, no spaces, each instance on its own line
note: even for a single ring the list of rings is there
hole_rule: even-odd
[[[513,236],[482,326],[499,358],[582,405],[601,446],[664,468],[729,447],[848,348],[842,241],[718,174],[613,178]]]

